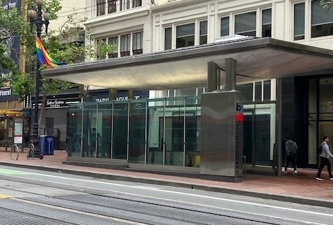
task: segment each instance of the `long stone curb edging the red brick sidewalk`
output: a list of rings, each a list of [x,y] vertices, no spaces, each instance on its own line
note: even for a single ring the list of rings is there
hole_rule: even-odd
[[[141,177],[126,177],[114,174],[102,174],[96,172],[86,172],[86,171],[79,171],[79,170],[64,170],[62,168],[49,168],[39,165],[22,165],[22,164],[13,164],[13,163],[4,163],[0,162],[0,165],[6,165],[10,167],[17,167],[17,168],[27,168],[27,169],[38,169],[44,170],[49,172],[62,172],[65,174],[74,174],[86,177],[96,177],[101,179],[109,179],[114,181],[128,181],[128,182],[135,182],[135,183],[148,183],[148,184],[155,184],[155,185],[162,185],[162,186],[172,186],[177,188],[189,188],[194,190],[207,190],[212,192],[223,192],[225,194],[231,195],[244,195],[247,197],[257,197],[262,199],[271,199],[276,201],[287,201],[296,204],[306,204],[311,206],[321,206],[325,208],[333,208],[332,201],[325,201],[323,199],[311,199],[311,198],[302,198],[302,197],[295,197],[295,196],[288,196],[288,195],[273,195],[268,193],[262,192],[253,192],[248,190],[239,190],[239,189],[232,189],[232,188],[222,188],[216,186],[203,186],[198,185],[195,183],[181,183],[176,181],[165,181],[165,180],[156,180],[156,179],[146,179]]]

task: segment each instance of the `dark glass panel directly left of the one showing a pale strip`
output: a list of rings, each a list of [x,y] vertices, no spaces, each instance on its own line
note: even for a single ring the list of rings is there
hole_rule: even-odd
[[[129,163],[146,163],[146,100],[130,101]]]

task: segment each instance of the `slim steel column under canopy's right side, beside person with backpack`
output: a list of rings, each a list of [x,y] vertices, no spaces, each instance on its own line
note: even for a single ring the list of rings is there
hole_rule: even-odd
[[[276,79],[276,150],[278,176],[282,176],[282,78]]]

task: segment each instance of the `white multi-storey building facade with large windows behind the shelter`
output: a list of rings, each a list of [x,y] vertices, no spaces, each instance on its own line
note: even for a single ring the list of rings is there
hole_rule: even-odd
[[[92,30],[93,44],[101,40],[117,46],[107,58],[210,44],[230,35],[333,48],[333,16],[323,11],[319,1],[96,0],[87,1],[87,8],[92,10],[86,12],[85,26]],[[300,76],[297,67],[292,78],[282,79],[282,136],[298,143],[299,166],[316,167],[316,146],[322,136],[333,136],[332,80],[331,71]],[[237,89],[244,93],[246,104],[247,162],[271,166],[276,145],[276,80],[241,84]],[[206,87],[150,91],[150,98],[200,96],[205,91]]]

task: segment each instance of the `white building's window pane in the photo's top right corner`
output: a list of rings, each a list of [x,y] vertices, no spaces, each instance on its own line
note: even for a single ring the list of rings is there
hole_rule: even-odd
[[[311,1],[311,37],[333,35],[333,13],[325,12],[319,1]]]

